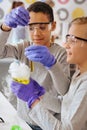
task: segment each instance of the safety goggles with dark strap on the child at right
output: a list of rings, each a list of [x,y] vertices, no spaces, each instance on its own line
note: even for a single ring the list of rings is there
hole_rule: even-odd
[[[68,43],[68,44],[75,44],[78,40],[87,42],[87,39],[77,37],[77,36],[74,36],[74,35],[70,35],[70,34],[66,35],[66,43]]]

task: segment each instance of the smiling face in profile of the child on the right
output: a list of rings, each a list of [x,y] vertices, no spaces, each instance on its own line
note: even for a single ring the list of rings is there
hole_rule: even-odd
[[[87,64],[87,24],[73,24],[66,37],[67,62],[81,66]],[[76,36],[76,38],[74,37]],[[83,38],[81,40],[80,38]]]

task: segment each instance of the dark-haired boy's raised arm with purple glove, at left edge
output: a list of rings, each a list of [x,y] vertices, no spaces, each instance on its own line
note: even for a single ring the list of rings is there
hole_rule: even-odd
[[[13,9],[6,15],[5,21],[1,26],[0,32],[0,58],[4,57],[16,57],[17,47],[11,45],[5,45],[11,28],[16,28],[18,25],[26,26],[29,22],[29,13],[23,7]],[[9,31],[9,32],[8,32]],[[15,56],[14,56],[15,55]]]

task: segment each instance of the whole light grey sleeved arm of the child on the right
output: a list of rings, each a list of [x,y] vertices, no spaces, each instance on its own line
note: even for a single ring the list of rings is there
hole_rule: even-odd
[[[66,117],[61,122],[46,109],[42,102],[35,105],[30,117],[44,130],[82,130],[87,122],[87,82],[76,91]],[[69,97],[67,97],[69,98]],[[67,100],[66,98],[66,100]],[[53,102],[52,102],[53,103]],[[64,104],[63,104],[64,105]],[[63,106],[62,106],[63,107]],[[64,109],[64,108],[62,108]],[[63,115],[63,113],[61,113]]]

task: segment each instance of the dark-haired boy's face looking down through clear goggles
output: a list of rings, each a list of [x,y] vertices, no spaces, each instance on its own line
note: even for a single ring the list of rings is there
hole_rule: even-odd
[[[30,12],[29,15],[29,37],[31,41],[34,44],[49,47],[51,31],[55,29],[55,22],[50,23],[48,16],[41,12]]]

